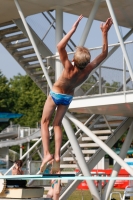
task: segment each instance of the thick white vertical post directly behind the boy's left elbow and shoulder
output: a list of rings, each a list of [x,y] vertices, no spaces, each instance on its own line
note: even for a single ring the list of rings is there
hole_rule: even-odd
[[[63,12],[60,8],[56,9],[56,46],[60,42],[60,40],[63,37]],[[56,54],[58,54],[57,49],[56,49]],[[55,62],[55,80],[59,78],[59,76],[62,73],[63,66],[59,60],[59,57],[56,57],[56,62]]]

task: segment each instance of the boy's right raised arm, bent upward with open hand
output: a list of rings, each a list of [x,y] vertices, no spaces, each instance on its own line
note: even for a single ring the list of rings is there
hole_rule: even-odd
[[[100,25],[103,40],[102,53],[89,64],[90,71],[97,67],[108,55],[108,31],[112,24],[112,18],[108,18],[105,24]]]

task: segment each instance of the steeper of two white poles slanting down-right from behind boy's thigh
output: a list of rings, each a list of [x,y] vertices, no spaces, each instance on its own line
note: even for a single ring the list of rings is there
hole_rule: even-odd
[[[62,123],[63,123],[64,129],[67,133],[67,136],[69,138],[69,141],[71,143],[71,146],[73,148],[73,151],[76,155],[78,164],[81,168],[83,175],[84,176],[91,176],[91,173],[89,172],[85,158],[82,154],[81,148],[79,147],[77,138],[76,138],[76,136],[73,132],[73,129],[71,127],[69,120],[66,117],[64,117]],[[93,196],[93,199],[94,200],[100,200],[100,196],[98,194],[98,191],[97,191],[97,188],[96,188],[94,182],[93,181],[87,181],[87,184],[89,186],[89,189],[91,191],[91,195]]]

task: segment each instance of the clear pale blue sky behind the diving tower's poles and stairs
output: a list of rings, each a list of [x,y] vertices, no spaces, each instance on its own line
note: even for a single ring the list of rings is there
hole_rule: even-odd
[[[64,22],[64,30],[68,32],[73,23],[77,20],[78,16],[71,15],[64,13],[63,15],[63,22]],[[84,30],[85,24],[87,19],[83,18],[77,28],[77,31],[72,36],[72,40],[78,44],[80,41],[82,32]],[[88,34],[87,41],[85,43],[85,47],[92,48],[102,45],[102,37],[101,37],[101,30],[100,30],[100,23],[99,21],[94,20],[90,33]],[[122,36],[128,31],[126,28],[121,28],[120,31]],[[108,41],[109,44],[114,44],[118,41],[117,35],[114,30],[114,26],[111,27],[109,34],[108,34]],[[25,75],[25,71],[23,68],[15,61],[15,59],[8,53],[8,51],[0,44],[0,57],[1,57],[1,65],[0,70],[2,73],[8,78],[12,78],[13,76],[17,75],[18,73]]]

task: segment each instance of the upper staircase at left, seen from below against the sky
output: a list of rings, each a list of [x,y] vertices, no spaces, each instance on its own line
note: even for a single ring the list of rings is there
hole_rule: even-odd
[[[35,55],[31,42],[27,37],[25,28],[21,20],[16,20],[16,24],[13,21],[0,24],[0,41],[31,79],[37,84],[37,86],[47,94],[47,81],[45,76],[43,76],[43,71],[38,62],[37,56]],[[41,47],[40,54],[44,65],[46,66],[46,70],[48,71],[51,80],[54,81],[54,67],[48,68],[46,61],[46,57],[52,56],[52,52],[45,46],[32,29],[31,32],[36,44],[39,44]]]

